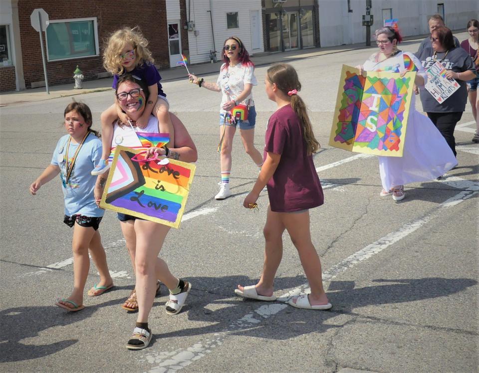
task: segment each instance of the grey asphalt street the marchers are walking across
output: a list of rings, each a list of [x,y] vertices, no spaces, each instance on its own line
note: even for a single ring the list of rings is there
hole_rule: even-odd
[[[403,49],[417,45],[406,42]],[[314,162],[325,204],[311,210],[311,233],[330,311],[234,295],[237,284],[254,284],[262,268],[267,193],[261,193],[258,212],[241,207],[258,171],[237,136],[234,194],[214,199],[220,95],[186,80],[164,84],[199,160],[182,225],[170,231],[160,255],[193,289],[183,311],[168,316],[163,287],[150,317],[154,339],[139,352],[124,347],[136,315],[120,305],[134,276],[114,212],[105,213],[100,231],[115,288],[100,297],[85,294],[80,312],[53,305],[71,291],[71,230],[62,223],[59,180],[36,196],[28,186],[64,133],[63,109],[71,97],[1,108],[0,371],[477,372],[479,148],[471,143],[471,109],[468,104],[456,131],[458,168],[442,181],[408,185],[401,202],[380,197],[375,157],[327,145],[341,65],[362,63],[371,52],[292,60],[322,145]],[[253,91],[258,149],[275,108],[264,94],[265,70],[256,69]],[[90,106],[99,128],[112,94],[77,100]],[[287,234],[283,238],[278,296],[307,287],[296,250]],[[97,280],[91,266],[87,287]]]

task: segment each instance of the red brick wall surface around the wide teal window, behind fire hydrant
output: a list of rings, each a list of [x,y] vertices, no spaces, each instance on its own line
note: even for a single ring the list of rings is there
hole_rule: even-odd
[[[132,7],[132,4],[134,6]],[[165,0],[130,0],[80,2],[58,0],[22,0],[18,2],[20,23],[20,42],[23,58],[23,73],[26,88],[31,82],[44,80],[41,61],[40,38],[38,32],[31,27],[30,14],[35,8],[43,8],[50,20],[97,17],[98,42],[100,56],[80,57],[63,61],[46,62],[48,84],[73,83],[73,71],[76,65],[85,76],[84,80],[98,77],[104,73],[102,54],[109,35],[124,26],[140,26],[143,35],[149,41],[148,47],[153,54],[155,64],[169,67],[168,28],[166,20]],[[124,9],[124,10],[122,10]],[[131,11],[128,11],[131,9]],[[43,44],[46,54],[45,33]],[[45,56],[46,59],[46,56]]]

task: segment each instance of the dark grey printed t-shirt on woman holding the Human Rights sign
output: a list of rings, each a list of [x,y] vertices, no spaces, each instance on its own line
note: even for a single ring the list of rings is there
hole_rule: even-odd
[[[424,48],[418,54],[418,59],[421,61],[424,69],[434,65],[434,49],[432,47]],[[476,67],[471,56],[463,48],[452,48],[446,52],[436,54],[436,60],[447,70],[453,70],[454,72],[464,72],[472,70],[476,72]],[[468,100],[468,90],[466,82],[464,80],[457,80],[460,87],[452,94],[447,100],[441,104],[423,87],[420,90],[421,102],[423,104],[423,110],[427,113],[454,113],[464,111],[466,108],[466,102]]]

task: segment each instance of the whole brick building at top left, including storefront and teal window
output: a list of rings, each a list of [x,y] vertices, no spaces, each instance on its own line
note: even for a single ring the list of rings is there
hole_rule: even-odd
[[[186,0],[139,0],[131,12],[126,0],[80,3],[58,0],[0,0],[0,91],[45,85],[39,32],[30,14],[42,8],[49,24],[42,32],[48,84],[73,82],[78,65],[85,80],[106,77],[102,54],[109,35],[124,26],[138,25],[149,41],[158,68],[169,67],[173,53],[188,50]],[[168,15],[175,19],[171,21]],[[178,59],[177,59],[178,60]]]

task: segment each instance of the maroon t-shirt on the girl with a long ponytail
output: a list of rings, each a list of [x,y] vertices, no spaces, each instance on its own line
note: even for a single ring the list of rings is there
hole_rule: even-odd
[[[281,155],[267,184],[271,211],[299,211],[323,204],[323,189],[313,157],[307,155],[301,123],[291,105],[276,110],[269,118],[264,159],[266,152]]]

